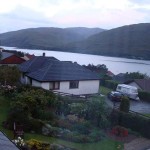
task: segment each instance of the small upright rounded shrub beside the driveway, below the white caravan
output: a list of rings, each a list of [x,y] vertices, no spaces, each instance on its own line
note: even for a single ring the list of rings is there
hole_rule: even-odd
[[[122,97],[121,103],[120,103],[120,111],[123,112],[129,112],[130,109],[130,100],[128,97]]]

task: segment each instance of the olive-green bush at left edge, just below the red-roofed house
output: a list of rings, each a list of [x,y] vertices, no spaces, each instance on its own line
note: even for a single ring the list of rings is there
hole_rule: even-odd
[[[0,66],[0,83],[2,85],[17,85],[20,72],[16,66]]]

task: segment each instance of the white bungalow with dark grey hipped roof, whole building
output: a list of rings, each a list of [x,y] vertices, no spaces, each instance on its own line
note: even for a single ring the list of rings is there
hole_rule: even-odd
[[[99,76],[77,63],[35,56],[22,63],[19,69],[24,84],[73,95],[99,92]]]

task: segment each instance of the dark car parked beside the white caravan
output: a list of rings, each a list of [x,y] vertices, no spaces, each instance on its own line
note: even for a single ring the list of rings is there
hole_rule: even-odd
[[[121,101],[122,97],[124,95],[120,92],[117,92],[117,91],[111,91],[109,94],[108,94],[108,98],[112,101]]]

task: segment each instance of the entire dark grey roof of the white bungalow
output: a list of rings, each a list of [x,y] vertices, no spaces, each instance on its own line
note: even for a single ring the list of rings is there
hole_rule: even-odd
[[[22,63],[19,69],[41,82],[100,79],[96,73],[77,63],[59,61],[54,57],[35,57]]]

